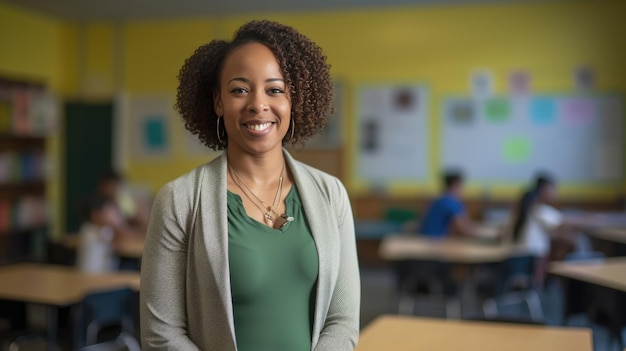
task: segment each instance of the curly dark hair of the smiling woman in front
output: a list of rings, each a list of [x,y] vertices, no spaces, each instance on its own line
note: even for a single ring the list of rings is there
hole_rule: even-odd
[[[213,40],[200,46],[185,61],[178,75],[180,84],[175,105],[185,128],[213,150],[226,148],[224,125],[217,130],[213,96],[219,92],[228,54],[251,42],[263,44],[274,53],[289,89],[292,125],[283,144],[303,144],[326,127],[326,115],[332,112],[330,65],[322,49],[310,39],[292,27],[267,20],[248,22],[239,28],[231,42]]]

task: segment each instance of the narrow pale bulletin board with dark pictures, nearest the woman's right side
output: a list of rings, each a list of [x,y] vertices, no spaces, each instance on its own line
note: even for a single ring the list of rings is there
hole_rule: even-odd
[[[386,184],[428,176],[428,91],[420,83],[356,89],[355,180]]]

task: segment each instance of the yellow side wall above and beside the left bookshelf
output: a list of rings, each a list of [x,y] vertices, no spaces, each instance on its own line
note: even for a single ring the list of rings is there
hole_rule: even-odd
[[[77,89],[76,28],[64,21],[0,3],[0,75],[43,83],[60,98]],[[59,125],[60,127],[60,125]],[[62,227],[62,150],[60,128],[46,141],[51,232]]]

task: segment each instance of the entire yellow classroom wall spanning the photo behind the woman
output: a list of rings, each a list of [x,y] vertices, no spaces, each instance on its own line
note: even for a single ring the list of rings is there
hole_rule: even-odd
[[[320,44],[335,77],[346,85],[345,115],[350,125],[351,93],[360,82],[422,81],[431,96],[429,162],[431,181],[399,189],[404,194],[430,195],[437,191],[439,105],[443,96],[468,93],[469,74],[486,67],[498,92],[506,89],[508,73],[525,69],[534,92],[572,90],[572,71],[589,65],[603,91],[626,93],[626,13],[623,1],[532,2],[502,5],[406,6],[340,12],[314,12],[131,21],[128,23],[68,23],[14,6],[0,4],[0,73],[42,79],[62,96],[112,99],[133,96],[174,96],[179,68],[199,45],[214,38],[230,38],[252,18],[290,24]],[[178,116],[172,122],[181,128]],[[124,120],[128,127],[132,121]],[[132,181],[156,191],[166,181],[212,157],[189,155],[182,132],[172,134],[172,154],[163,161],[133,155],[124,145],[124,171]],[[347,146],[353,131],[346,130]],[[61,146],[51,138],[57,157]],[[349,160],[354,150],[345,150]],[[626,163],[626,162],[625,162]],[[344,174],[350,164],[345,162]],[[353,194],[359,189],[347,185]],[[59,193],[60,180],[55,178]],[[495,186],[492,194],[510,197],[519,184]],[[574,187],[571,197],[613,197],[614,187]],[[622,189],[626,192],[626,183]],[[478,195],[479,187],[470,187]],[[57,194],[58,195],[58,194]],[[57,196],[58,198],[58,196]],[[60,201],[60,200],[59,200]]]

